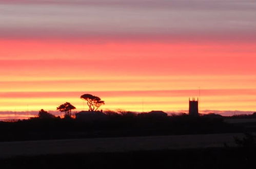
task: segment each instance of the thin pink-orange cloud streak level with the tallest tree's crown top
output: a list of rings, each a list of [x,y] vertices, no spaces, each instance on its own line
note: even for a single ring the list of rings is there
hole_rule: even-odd
[[[163,91],[92,91],[94,95],[102,97],[127,97],[127,96],[194,96],[199,90],[163,90]],[[215,89],[200,90],[203,96],[240,96],[256,95],[256,89]],[[80,97],[84,92],[0,92],[0,98],[58,98],[58,97]]]

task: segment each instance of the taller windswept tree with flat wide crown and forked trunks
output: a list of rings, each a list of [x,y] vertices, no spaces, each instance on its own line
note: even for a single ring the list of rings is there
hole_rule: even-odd
[[[97,111],[101,105],[105,104],[105,102],[101,100],[100,97],[93,96],[91,94],[84,94],[80,98],[87,101],[87,105],[90,111]]]

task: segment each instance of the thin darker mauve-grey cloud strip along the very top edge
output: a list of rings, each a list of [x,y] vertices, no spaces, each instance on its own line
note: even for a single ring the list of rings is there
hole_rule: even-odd
[[[58,4],[58,5],[93,5],[93,6],[123,6],[134,8],[170,8],[170,9],[230,9],[254,10],[255,1],[245,0],[13,0],[0,1],[3,4]]]

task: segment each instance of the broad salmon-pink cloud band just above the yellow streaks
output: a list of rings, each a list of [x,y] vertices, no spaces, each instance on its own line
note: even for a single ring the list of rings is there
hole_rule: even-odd
[[[254,62],[253,56],[0,60],[2,75],[11,75],[11,72],[15,73],[13,70],[19,70],[19,74],[23,76],[69,75],[70,77],[113,73],[115,75],[134,75],[134,73],[136,75],[253,75]]]

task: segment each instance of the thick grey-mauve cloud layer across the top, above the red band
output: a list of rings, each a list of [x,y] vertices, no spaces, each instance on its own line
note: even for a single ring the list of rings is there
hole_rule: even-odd
[[[245,41],[256,36],[255,9],[249,1],[2,1],[0,37]]]

